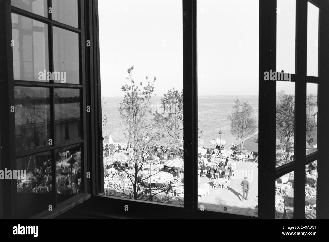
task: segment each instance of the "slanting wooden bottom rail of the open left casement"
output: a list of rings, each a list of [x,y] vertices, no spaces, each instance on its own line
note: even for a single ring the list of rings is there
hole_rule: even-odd
[[[58,206],[52,211],[46,210],[29,219],[54,219],[55,217],[63,214],[64,212],[67,212],[75,206],[78,206],[79,204],[82,204],[83,202],[87,201],[90,197],[91,196],[88,193],[79,194],[75,197],[67,199],[63,203],[58,204]]]

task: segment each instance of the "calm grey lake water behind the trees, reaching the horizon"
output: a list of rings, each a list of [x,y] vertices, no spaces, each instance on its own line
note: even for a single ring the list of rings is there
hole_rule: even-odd
[[[218,131],[222,130],[221,138],[227,143],[225,148],[231,147],[231,144],[236,144],[237,137],[233,136],[230,132],[230,121],[227,119],[227,115],[232,113],[234,100],[236,96],[201,96],[198,98],[198,118],[199,129],[202,131],[201,138],[204,139],[205,147],[215,147],[209,143],[209,140],[219,138]],[[239,96],[241,102],[248,101],[253,108],[254,115],[258,120],[258,96]],[[118,105],[122,101],[122,97],[105,97],[106,102],[103,115],[107,117],[107,127],[104,130],[110,133],[114,142],[124,142],[125,138],[122,133],[120,125],[120,116],[118,111]],[[161,103],[161,97],[153,99],[153,103]],[[148,117],[151,119],[151,115]],[[199,139],[199,144],[200,144]]]

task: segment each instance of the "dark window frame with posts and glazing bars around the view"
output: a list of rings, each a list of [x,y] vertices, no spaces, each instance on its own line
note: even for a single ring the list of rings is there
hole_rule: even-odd
[[[321,8],[319,15],[319,76],[306,76],[306,53],[307,53],[307,0],[296,1],[296,74],[292,75],[292,82],[295,82],[295,161],[275,168],[275,134],[276,134],[276,84],[265,82],[264,72],[269,69],[275,70],[276,64],[276,0],[259,1],[259,201],[258,219],[275,218],[275,179],[294,171],[294,219],[305,219],[305,165],[317,159],[318,185],[317,185],[317,219],[328,218],[329,215],[329,187],[326,186],[329,171],[329,163],[326,160],[326,146],[329,141],[326,136],[329,134],[329,114],[324,110],[326,103],[329,103],[329,68],[325,66],[329,56],[329,32],[326,25],[329,23],[329,2],[312,1]],[[48,0],[48,6],[51,0]],[[197,1],[182,0],[183,4],[183,73],[184,73],[184,207],[173,205],[162,205],[154,202],[135,201],[114,197],[99,196],[104,192],[103,187],[103,152],[102,152],[102,111],[101,111],[101,82],[100,82],[100,58],[99,58],[99,26],[98,26],[98,0],[81,0],[80,5],[80,72],[81,85],[66,84],[66,87],[78,87],[82,89],[82,110],[90,106],[90,113],[83,111],[83,139],[74,141],[83,142],[83,171],[90,172],[90,179],[83,179],[84,192],[90,193],[91,199],[85,202],[88,212],[98,217],[130,217],[130,218],[200,218],[200,219],[257,219],[256,217],[232,214],[229,212],[200,211],[198,209],[198,179],[197,170]],[[306,6],[306,7],[305,7]],[[10,112],[12,106],[14,83],[6,80],[13,80],[13,53],[10,46],[11,33],[11,10],[18,14],[27,14],[28,17],[47,22],[52,27],[59,26],[68,30],[77,31],[76,28],[52,21],[37,14],[11,7],[10,0],[0,1],[0,60],[4,65],[0,66],[0,97],[3,105],[0,106],[1,125],[1,159],[0,168],[14,170],[16,164],[15,153],[11,148],[15,147],[15,122],[14,114]],[[306,12],[305,12],[306,9]],[[303,29],[304,28],[304,29]],[[48,29],[48,35],[52,31]],[[51,34],[50,34],[51,35]],[[303,40],[305,38],[305,40]],[[90,47],[86,46],[86,40],[90,40]],[[52,41],[52,36],[48,37]],[[52,45],[49,45],[51,48]],[[9,51],[7,51],[9,50]],[[51,50],[52,51],[52,50]],[[298,58],[297,58],[298,57]],[[53,54],[49,56],[52,61]],[[49,68],[52,68],[53,63]],[[303,67],[305,67],[303,69]],[[52,71],[52,70],[50,70]],[[304,73],[305,72],[305,73]],[[5,81],[1,81],[5,80]],[[88,81],[86,81],[88,80]],[[320,83],[318,87],[318,151],[305,156],[306,140],[306,83]],[[63,87],[63,84],[33,83],[15,81],[15,85],[36,85],[45,87]],[[88,90],[88,91],[87,91]],[[323,111],[321,111],[323,110]],[[54,119],[54,117],[53,117]],[[53,120],[54,121],[54,120]],[[301,132],[302,131],[302,132]],[[321,132],[319,132],[321,131]],[[54,130],[53,130],[54,132]],[[70,143],[71,144],[71,143]],[[61,144],[62,146],[66,146]],[[54,146],[49,150],[55,150]],[[39,151],[39,150],[38,150]],[[43,150],[42,150],[43,151]],[[40,152],[42,152],[40,150]],[[321,162],[323,161],[323,162]],[[55,159],[54,159],[55,162]],[[193,164],[193,165],[190,165]],[[54,165],[55,166],[55,165]],[[53,167],[56,168],[56,167]],[[55,172],[56,169],[53,169]],[[4,180],[0,182],[3,193],[0,194],[0,218],[17,218],[16,207],[16,181]],[[56,195],[56,193],[55,193]],[[55,196],[56,197],[56,196]],[[129,214],[124,210],[124,205],[129,206]],[[3,209],[6,208],[6,209]],[[110,209],[109,209],[110,208]],[[151,211],[151,213],[150,213]]]

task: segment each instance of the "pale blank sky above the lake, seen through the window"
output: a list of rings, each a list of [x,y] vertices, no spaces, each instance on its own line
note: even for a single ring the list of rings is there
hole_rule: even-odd
[[[120,87],[132,65],[136,83],[156,76],[157,96],[183,88],[181,0],[99,0],[98,5],[103,96],[123,96]],[[316,11],[309,6],[308,74],[317,67]],[[198,0],[197,16],[198,95],[258,95],[259,0]],[[278,0],[277,25],[277,69],[293,73],[295,0]],[[293,85],[280,86],[294,92]]]

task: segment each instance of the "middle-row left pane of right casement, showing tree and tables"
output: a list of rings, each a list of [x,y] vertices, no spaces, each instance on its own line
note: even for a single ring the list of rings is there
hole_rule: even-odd
[[[276,82],[276,167],[295,160],[295,84]]]

